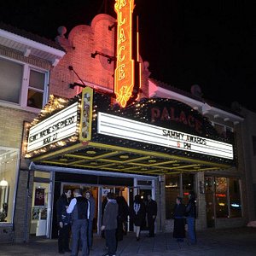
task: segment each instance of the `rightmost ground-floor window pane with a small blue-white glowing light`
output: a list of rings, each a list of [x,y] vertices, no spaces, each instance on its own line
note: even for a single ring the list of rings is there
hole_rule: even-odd
[[[240,184],[237,178],[230,178],[230,217],[241,217]]]

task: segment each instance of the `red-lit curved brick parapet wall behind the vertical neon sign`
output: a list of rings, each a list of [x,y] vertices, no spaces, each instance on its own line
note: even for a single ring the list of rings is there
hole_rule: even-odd
[[[49,93],[56,96],[72,98],[79,94],[81,88],[70,89],[69,84],[90,84],[96,89],[106,88],[113,92],[114,61],[108,63],[108,58],[102,55],[91,57],[96,51],[103,54],[115,55],[114,28],[110,31],[108,26],[113,26],[116,20],[109,15],[96,15],[90,26],[75,26],[69,32],[68,38],[60,44],[66,49],[67,54],[52,70],[50,77]],[[64,44],[63,44],[64,42]],[[142,58],[140,61],[143,63]],[[72,66],[75,73],[68,67]],[[143,67],[143,96],[148,96],[148,65]]]

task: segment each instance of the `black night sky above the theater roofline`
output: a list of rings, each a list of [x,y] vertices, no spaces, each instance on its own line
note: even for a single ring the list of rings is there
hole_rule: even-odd
[[[107,5],[104,5],[104,3]],[[58,26],[89,25],[114,0],[6,0],[0,20],[54,39]],[[151,77],[203,97],[256,112],[256,15],[253,1],[135,0],[140,51]]]

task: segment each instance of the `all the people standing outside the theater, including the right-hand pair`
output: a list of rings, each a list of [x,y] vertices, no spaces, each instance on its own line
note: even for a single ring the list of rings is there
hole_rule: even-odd
[[[71,252],[72,256],[77,256],[79,246],[82,255],[88,256],[93,240],[93,218],[95,215],[95,199],[91,192],[82,195],[81,189],[73,190],[73,199],[70,201],[72,191],[65,189],[56,202],[57,222],[59,227],[58,248],[59,253]],[[144,203],[140,195],[135,195],[131,207],[128,207],[123,196],[115,197],[109,192],[102,212],[102,231],[106,238],[108,253],[104,256],[115,256],[117,241],[123,239],[125,224],[128,215],[134,224],[137,241],[140,240],[140,232],[146,215],[148,221],[148,237],[154,237],[154,221],[157,215],[157,203],[148,196],[147,204]],[[186,236],[185,224],[188,224],[189,243],[195,244],[195,193],[189,192],[189,202],[183,204],[183,198],[177,196],[174,208],[174,228],[173,237],[178,242],[183,241]],[[71,224],[72,223],[72,224]],[[70,230],[72,232],[72,249],[69,248]]]

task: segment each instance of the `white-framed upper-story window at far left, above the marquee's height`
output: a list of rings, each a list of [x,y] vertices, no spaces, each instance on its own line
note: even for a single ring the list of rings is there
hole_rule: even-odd
[[[0,100],[41,109],[47,101],[48,72],[0,58]]]

